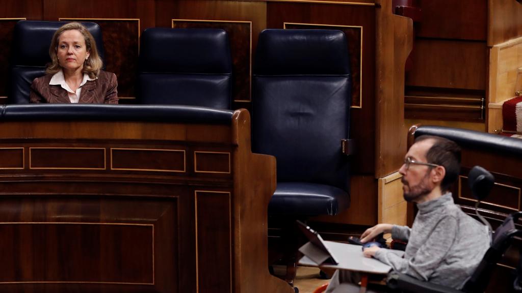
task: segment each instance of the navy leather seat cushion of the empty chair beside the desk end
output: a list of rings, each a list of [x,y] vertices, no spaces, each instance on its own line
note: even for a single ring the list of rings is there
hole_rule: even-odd
[[[336,215],[348,208],[348,192],[329,185],[277,182],[268,205],[269,215]]]

